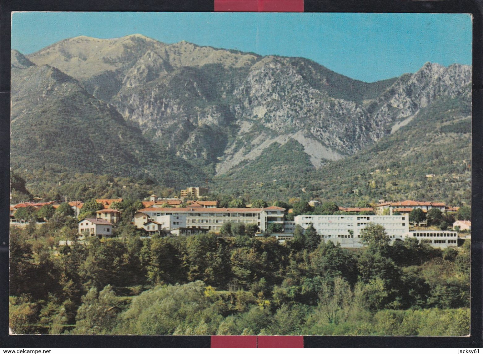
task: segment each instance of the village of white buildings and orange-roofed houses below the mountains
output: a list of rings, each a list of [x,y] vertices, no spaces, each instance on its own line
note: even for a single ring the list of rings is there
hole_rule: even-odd
[[[273,236],[281,243],[293,240],[297,226],[303,229],[313,227],[321,240],[339,243],[342,248],[363,247],[361,230],[369,223],[384,227],[390,243],[414,238],[419,243],[446,248],[458,246],[458,240],[462,243],[470,237],[468,212],[459,213],[458,207],[442,202],[390,202],[380,199],[372,206],[337,207],[331,214],[316,214],[316,208],[321,205],[319,200],[306,203],[314,212],[302,210],[294,213],[293,208],[268,206],[267,203],[220,207],[217,200],[203,200],[208,192],[207,188],[188,187],[181,190],[180,198],[162,198],[152,194],[133,211],[131,224],[142,230],[144,237],[181,237],[207,232],[223,236],[230,233],[232,225],[241,225],[251,236]],[[68,205],[69,212],[77,220],[79,240],[87,236],[112,237],[122,215],[116,208],[122,202],[122,198],[95,199],[97,208],[94,209],[98,210],[90,213],[86,212],[87,208],[83,210],[83,201],[22,202],[10,206],[10,225],[23,227],[32,221],[33,215],[37,223],[43,223],[64,204],[63,208]],[[440,221],[443,216],[450,224],[443,221],[435,225],[433,219]],[[66,244],[71,241],[60,242]]]

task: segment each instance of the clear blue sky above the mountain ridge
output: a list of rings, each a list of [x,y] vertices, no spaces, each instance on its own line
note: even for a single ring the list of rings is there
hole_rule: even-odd
[[[30,54],[69,37],[141,33],[261,55],[306,57],[373,82],[426,61],[471,64],[468,14],[14,13],[12,48]]]

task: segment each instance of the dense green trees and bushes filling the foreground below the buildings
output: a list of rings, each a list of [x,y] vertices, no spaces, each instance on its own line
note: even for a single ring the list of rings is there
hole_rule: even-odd
[[[469,334],[469,241],[444,251],[390,246],[377,225],[362,249],[321,241],[311,227],[285,244],[238,224],[222,235],[147,238],[132,212],[100,240],[78,240],[67,210],[11,227],[14,333]]]

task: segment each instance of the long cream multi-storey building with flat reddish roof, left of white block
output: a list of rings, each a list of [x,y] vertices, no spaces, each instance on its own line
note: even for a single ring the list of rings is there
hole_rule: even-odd
[[[143,213],[150,220],[161,223],[162,216],[170,216],[169,230],[177,227],[203,228],[219,232],[223,224],[243,223],[255,224],[261,231],[268,225],[277,223],[284,226],[284,208],[271,206],[268,208],[144,208],[134,215],[134,225],[138,213]],[[142,217],[142,215],[140,215]],[[147,219],[145,219],[147,221]],[[144,222],[146,222],[144,221]],[[178,222],[179,224],[173,224]],[[184,223],[184,225],[183,225]]]

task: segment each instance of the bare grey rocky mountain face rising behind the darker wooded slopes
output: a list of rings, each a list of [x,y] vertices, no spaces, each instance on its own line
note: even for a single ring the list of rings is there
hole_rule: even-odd
[[[26,60],[71,75],[160,149],[218,174],[291,140],[321,167],[398,134],[441,97],[470,95],[471,83],[471,67],[459,64],[363,83],[304,58],[142,35],[76,37]]]

